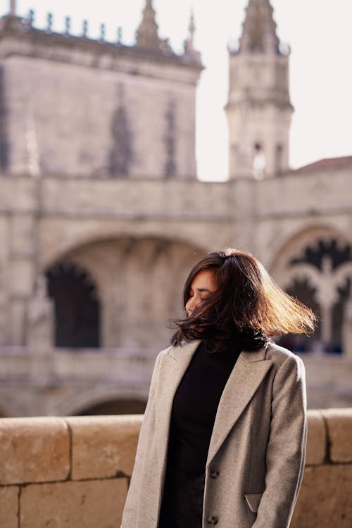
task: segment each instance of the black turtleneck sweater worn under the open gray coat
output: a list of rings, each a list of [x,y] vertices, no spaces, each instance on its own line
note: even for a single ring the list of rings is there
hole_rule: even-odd
[[[222,391],[239,356],[209,351],[203,342],[194,353],[172,404],[168,465],[189,474],[202,474]]]

